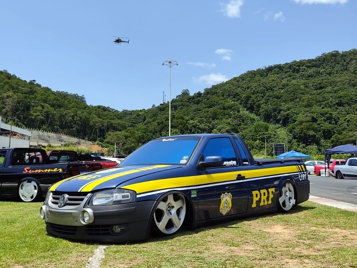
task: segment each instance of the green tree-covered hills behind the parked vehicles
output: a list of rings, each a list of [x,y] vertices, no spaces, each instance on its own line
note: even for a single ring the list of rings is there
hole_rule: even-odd
[[[357,133],[357,50],[247,71],[171,101],[171,135],[234,132],[253,153],[272,155],[273,143],[303,153],[352,143]],[[158,89],[159,91],[159,89]],[[169,103],[117,111],[87,105],[85,96],[52,91],[35,80],[0,71],[0,115],[22,127],[58,131],[130,153],[168,135]]]

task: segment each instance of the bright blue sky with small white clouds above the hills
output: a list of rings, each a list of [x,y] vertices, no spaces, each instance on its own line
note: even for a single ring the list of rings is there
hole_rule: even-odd
[[[357,47],[356,0],[0,3],[0,70],[119,111]]]

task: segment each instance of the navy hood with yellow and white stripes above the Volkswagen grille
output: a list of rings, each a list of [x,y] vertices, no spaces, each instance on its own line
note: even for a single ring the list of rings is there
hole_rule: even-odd
[[[140,165],[103,169],[61,180],[52,184],[50,191],[91,192],[93,190],[115,188],[117,185],[120,185],[128,180],[180,167],[182,166]],[[143,179],[143,181],[145,181],[145,179]]]

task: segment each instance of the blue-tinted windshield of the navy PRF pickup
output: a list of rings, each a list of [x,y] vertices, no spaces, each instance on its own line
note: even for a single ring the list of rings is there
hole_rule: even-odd
[[[199,140],[200,137],[152,140],[130,154],[122,164],[186,164]]]

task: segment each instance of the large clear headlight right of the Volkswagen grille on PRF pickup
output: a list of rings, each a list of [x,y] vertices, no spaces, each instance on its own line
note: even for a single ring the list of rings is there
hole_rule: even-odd
[[[136,201],[136,193],[126,189],[112,189],[94,193],[89,205],[118,205]]]

